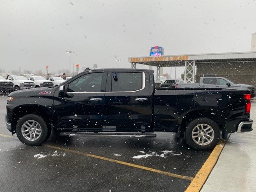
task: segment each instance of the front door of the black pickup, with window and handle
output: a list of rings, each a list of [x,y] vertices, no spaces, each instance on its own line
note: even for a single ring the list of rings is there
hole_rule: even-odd
[[[57,128],[102,130],[106,76],[107,71],[97,70],[64,84],[65,92],[57,93],[58,101],[54,101]]]

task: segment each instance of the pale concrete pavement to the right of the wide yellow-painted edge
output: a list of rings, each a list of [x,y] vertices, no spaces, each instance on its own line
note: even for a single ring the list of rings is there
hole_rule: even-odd
[[[256,99],[252,100],[252,132],[231,134],[202,192],[256,191]]]

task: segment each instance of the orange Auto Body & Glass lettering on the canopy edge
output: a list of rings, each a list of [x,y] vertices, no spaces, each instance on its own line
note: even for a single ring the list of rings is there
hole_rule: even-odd
[[[129,62],[182,61],[182,60],[188,60],[188,55],[129,58]]]

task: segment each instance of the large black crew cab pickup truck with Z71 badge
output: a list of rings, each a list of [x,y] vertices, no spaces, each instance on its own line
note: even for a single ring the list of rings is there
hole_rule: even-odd
[[[176,132],[195,150],[252,131],[250,91],[154,88],[154,71],[86,70],[56,87],[9,94],[6,126],[29,146],[58,136],[155,137]]]

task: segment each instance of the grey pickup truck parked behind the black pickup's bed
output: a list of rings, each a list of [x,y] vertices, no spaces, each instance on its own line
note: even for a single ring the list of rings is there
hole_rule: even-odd
[[[199,83],[176,83],[175,88],[226,88],[249,90],[252,98],[255,97],[255,87],[247,84],[235,84],[225,77],[201,77]]]

